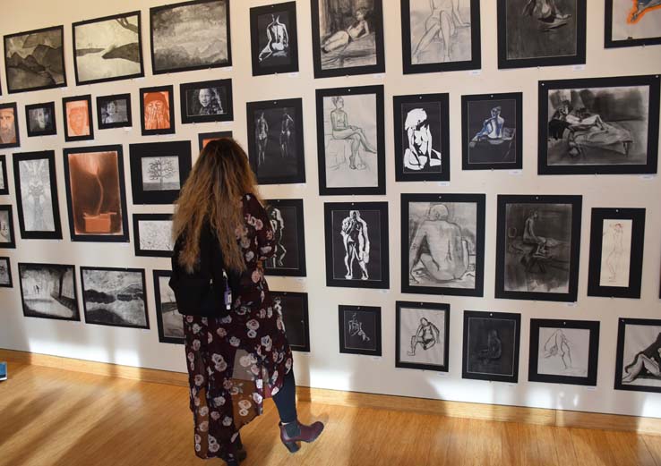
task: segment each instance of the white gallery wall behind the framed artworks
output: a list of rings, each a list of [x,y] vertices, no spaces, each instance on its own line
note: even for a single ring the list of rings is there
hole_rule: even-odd
[[[261,190],[265,199],[304,199],[305,278],[269,277],[272,290],[307,292],[310,304],[311,352],[295,352],[296,379],[299,385],[375,394],[397,394],[443,400],[484,402],[575,411],[610,412],[661,416],[661,394],[614,390],[615,347],[618,318],[659,318],[659,268],[661,265],[661,182],[656,175],[537,175],[537,81],[653,74],[661,72],[661,46],[604,48],[604,2],[588,0],[587,64],[499,71],[497,69],[496,2],[481,2],[482,70],[480,72],[442,72],[402,74],[401,20],[398,0],[383,0],[386,72],[339,78],[313,78],[311,6],[308,0],[296,2],[299,68],[295,74],[253,77],[250,60],[249,8],[270,4],[261,0],[231,0],[231,68],[178,72],[154,76],[149,53],[149,8],[165,4],[162,0],[3,0],[0,33],[11,34],[64,24],[64,54],[68,86],[20,94],[6,93],[4,64],[3,96],[0,103],[19,106],[21,148],[0,150],[7,157],[9,196],[0,204],[14,207],[17,244],[15,250],[0,250],[11,259],[13,288],[0,289],[0,347],[112,362],[152,369],[185,371],[183,347],[159,343],[156,329],[154,288],[151,271],[167,269],[167,258],[137,258],[131,243],[69,241],[64,163],[62,150],[68,147],[123,144],[127,208],[135,213],[170,213],[172,206],[133,205],[128,145],[136,142],[190,140],[193,162],[197,135],[210,131],[233,131],[247,148],[245,103],[250,101],[301,97],[305,130],[304,184],[270,185]],[[135,80],[76,87],[73,74],[71,23],[116,13],[142,11],[142,46],[145,77]],[[233,122],[182,124],[178,107],[179,84],[185,82],[233,80]],[[385,89],[386,192],[385,196],[320,196],[317,173],[315,89],[382,84]],[[141,136],[139,89],[174,85],[176,98],[176,135]],[[131,93],[133,129],[99,131],[95,140],[65,143],[61,100],[63,97],[91,94],[98,96]],[[450,93],[451,181],[395,182],[393,162],[392,97],[414,93]],[[523,93],[523,170],[462,171],[460,99],[462,95]],[[56,102],[56,136],[28,138],[24,106]],[[96,115],[96,104],[94,104]],[[52,149],[56,151],[56,176],[63,241],[21,240],[15,213],[12,154]],[[400,292],[400,203],[401,193],[484,193],[486,195],[485,295],[482,298],[430,296]],[[583,197],[580,234],[579,293],[576,303],[514,301],[494,299],[496,254],[496,198],[498,194],[573,194]],[[323,203],[328,201],[388,201],[390,234],[390,290],[328,288],[325,286]],[[645,208],[645,248],[640,300],[587,297],[589,225],[591,208]],[[129,217],[131,218],[131,217]],[[133,230],[131,231],[133,241]],[[150,330],[95,326],[41,318],[24,318],[19,288],[19,262],[75,264],[79,303],[82,313],[80,270],[78,267],[144,268]],[[447,374],[395,368],[395,301],[443,302],[451,306],[449,365]],[[339,353],[338,306],[365,305],[382,309],[382,357]],[[486,310],[521,314],[519,383],[495,383],[461,378],[463,311]],[[598,377],[596,387],[528,382],[528,343],[530,318],[599,320]],[[84,320],[84,319],[83,319]]]

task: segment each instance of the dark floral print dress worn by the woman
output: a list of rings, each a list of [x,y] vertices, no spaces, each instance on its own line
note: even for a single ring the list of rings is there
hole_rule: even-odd
[[[238,296],[225,318],[184,318],[195,454],[236,458],[238,430],[262,414],[265,397],[279,392],[292,368],[285,326],[273,301],[262,261],[274,252],[269,217],[251,194],[241,199],[237,229],[245,258]]]

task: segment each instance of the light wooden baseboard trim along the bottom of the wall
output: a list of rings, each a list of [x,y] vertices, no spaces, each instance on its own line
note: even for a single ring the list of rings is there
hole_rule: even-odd
[[[76,360],[34,352],[17,352],[0,349],[0,360],[25,365],[42,366],[86,372],[106,377],[120,377],[153,384],[188,386],[188,375],[167,370],[134,368],[90,360]],[[11,370],[11,368],[10,368]],[[11,376],[11,372],[10,372]],[[449,402],[426,398],[412,398],[386,394],[364,394],[324,388],[297,387],[298,399],[356,408],[379,410],[412,411],[436,414],[451,418],[496,420],[519,422],[562,428],[599,428],[623,430],[646,435],[661,436],[661,419],[624,416],[621,414],[599,414],[585,411],[562,411],[544,408],[527,408],[476,402]]]

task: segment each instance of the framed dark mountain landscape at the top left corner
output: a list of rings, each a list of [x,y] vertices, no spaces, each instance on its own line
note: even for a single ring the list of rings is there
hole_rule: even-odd
[[[62,26],[4,36],[9,93],[66,87],[63,43]]]

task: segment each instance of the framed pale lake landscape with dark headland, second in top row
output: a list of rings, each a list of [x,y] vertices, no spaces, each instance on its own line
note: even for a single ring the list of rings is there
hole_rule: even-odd
[[[139,11],[74,22],[72,30],[78,86],[144,76]]]

